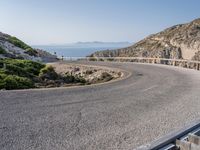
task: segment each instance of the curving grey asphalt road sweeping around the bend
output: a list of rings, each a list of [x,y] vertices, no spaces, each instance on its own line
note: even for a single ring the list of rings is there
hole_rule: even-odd
[[[198,71],[89,64],[131,75],[103,85],[0,91],[0,149],[131,150],[200,118]]]

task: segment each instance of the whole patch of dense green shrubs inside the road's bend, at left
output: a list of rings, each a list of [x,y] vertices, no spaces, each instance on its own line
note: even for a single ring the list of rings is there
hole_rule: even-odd
[[[77,75],[57,74],[52,66],[30,60],[0,59],[0,89],[58,87],[86,81]]]

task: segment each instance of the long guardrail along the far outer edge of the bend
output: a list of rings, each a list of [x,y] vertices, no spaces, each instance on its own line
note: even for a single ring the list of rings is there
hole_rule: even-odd
[[[152,64],[165,64],[180,66],[200,70],[200,61],[187,59],[167,59],[167,58],[148,58],[148,57],[60,57],[61,60],[76,61],[118,61],[118,62],[139,62]]]

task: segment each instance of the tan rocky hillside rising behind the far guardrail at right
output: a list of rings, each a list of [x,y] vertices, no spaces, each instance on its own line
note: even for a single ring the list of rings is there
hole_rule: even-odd
[[[150,35],[130,47],[98,51],[91,56],[200,60],[200,19]]]

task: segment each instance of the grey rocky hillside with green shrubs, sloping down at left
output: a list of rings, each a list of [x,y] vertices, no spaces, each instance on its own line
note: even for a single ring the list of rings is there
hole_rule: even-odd
[[[16,37],[0,32],[0,58],[17,58],[34,61],[55,61],[57,57],[39,49],[33,49]]]

